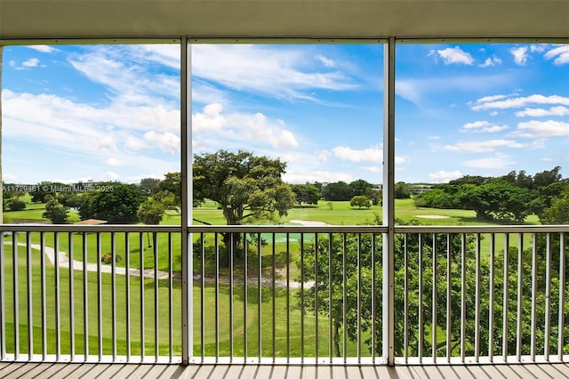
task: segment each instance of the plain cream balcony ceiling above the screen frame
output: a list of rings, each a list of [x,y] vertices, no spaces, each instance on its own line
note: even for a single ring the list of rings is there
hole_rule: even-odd
[[[569,0],[0,0],[0,39],[140,36],[569,37]]]

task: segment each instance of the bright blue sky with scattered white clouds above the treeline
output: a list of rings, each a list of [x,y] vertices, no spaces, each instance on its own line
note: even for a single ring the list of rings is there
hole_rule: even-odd
[[[382,44],[194,44],[192,149],[287,162],[284,180],[381,182]],[[569,45],[400,44],[396,180],[569,176]],[[180,47],[5,46],[5,182],[180,170]]]

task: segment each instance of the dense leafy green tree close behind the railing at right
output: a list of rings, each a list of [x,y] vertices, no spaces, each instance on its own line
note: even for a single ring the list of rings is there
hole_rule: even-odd
[[[433,239],[435,238],[435,239]],[[555,239],[555,238],[554,238]],[[490,312],[490,266],[491,261],[482,254],[477,257],[476,240],[473,236],[445,234],[433,236],[429,234],[397,234],[394,246],[395,259],[395,340],[394,349],[397,356],[405,353],[405,336],[408,351],[416,356],[420,347],[424,356],[446,355],[446,338],[441,335],[437,346],[432,345],[433,310],[437,310],[437,330],[445,331],[447,321],[450,322],[452,356],[464,353],[475,354],[475,346],[480,352],[489,351],[490,319],[493,319],[493,352],[501,354],[502,339],[508,341],[508,355],[517,353],[517,319],[521,322],[522,354],[529,354],[533,330],[538,336],[537,351],[544,348],[544,319],[548,290],[545,280],[545,243],[538,246],[537,286],[532,280],[532,249],[519,252],[511,247],[508,254],[497,251],[493,259],[493,312]],[[450,246],[449,246],[450,243]],[[557,246],[558,240],[552,241]],[[421,246],[421,247],[420,247]],[[433,249],[433,246],[436,248]],[[450,254],[447,252],[450,251]],[[555,251],[555,249],[553,249]],[[297,305],[305,311],[317,312],[331,318],[333,324],[333,346],[336,356],[341,356],[341,340],[344,335],[353,342],[365,337],[368,348],[381,351],[382,343],[382,265],[381,235],[372,233],[326,234],[318,235],[315,243],[306,244],[303,248],[300,267],[300,280],[314,283],[305,286],[302,293],[297,294]],[[522,266],[518,267],[518,254],[522,254]],[[554,254],[555,255],[555,254]],[[558,255],[558,253],[557,253]],[[450,256],[450,262],[448,262]],[[433,270],[434,257],[436,272]],[[477,267],[477,262],[479,265]],[[508,266],[507,287],[509,292],[508,310],[505,320],[507,335],[502,335],[504,325],[504,266]],[[566,263],[566,266],[569,262]],[[565,266],[565,270],[567,267]],[[450,267],[450,282],[447,268]],[[557,350],[557,314],[559,302],[559,261],[551,260],[551,283],[549,288],[551,325],[550,347]],[[521,292],[522,313],[517,315],[518,270],[523,271]],[[433,278],[436,283],[436,295],[433,296]],[[479,278],[479,286],[477,286]],[[332,279],[332,280],[330,280]],[[450,287],[450,298],[447,288]],[[565,286],[566,287],[566,286]],[[332,294],[331,294],[332,292]],[[536,315],[539,324],[533,327],[532,300],[537,300]],[[569,288],[565,290],[569,296]],[[437,304],[433,306],[433,298]],[[332,302],[330,302],[332,299]],[[448,306],[450,302],[450,306]],[[374,307],[372,306],[374,304]],[[448,308],[447,308],[448,307]],[[477,314],[478,310],[478,314]],[[569,311],[569,303],[565,302],[565,312]],[[448,318],[450,317],[450,319]],[[422,322],[421,322],[421,321]],[[373,335],[372,327],[375,334]],[[462,333],[464,327],[464,333]],[[478,331],[478,339],[477,339]],[[437,332],[437,335],[439,332]],[[420,337],[421,335],[421,337]],[[569,324],[565,322],[565,349],[569,346]]]

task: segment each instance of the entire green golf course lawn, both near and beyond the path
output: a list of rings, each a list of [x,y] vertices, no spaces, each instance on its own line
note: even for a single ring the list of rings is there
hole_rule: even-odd
[[[29,204],[28,209],[19,212],[4,213],[4,220],[12,220],[19,222],[42,222],[42,214],[44,212],[43,204]],[[319,221],[333,225],[357,225],[371,223],[376,214],[381,215],[381,206],[372,206],[371,208],[357,209],[349,206],[349,202],[319,202],[317,206],[296,207],[289,211],[289,214],[279,222],[286,224],[293,220]],[[221,211],[213,203],[206,203],[203,206],[193,209],[195,219],[202,222],[212,224],[224,224]],[[417,209],[413,200],[397,200],[396,216],[401,222],[411,220],[420,221],[425,225],[480,225],[476,220],[476,214],[467,210],[441,210],[431,208]],[[423,217],[421,217],[423,216]],[[427,217],[425,217],[427,216]],[[439,218],[433,218],[439,216]],[[76,217],[76,214],[74,215]],[[76,217],[78,220],[78,217]],[[72,220],[75,220],[72,219]],[[530,217],[526,223],[538,223],[536,217]],[[164,225],[179,225],[180,214],[169,212],[164,216],[162,222]],[[490,223],[485,223],[490,224]],[[313,236],[313,235],[312,235]],[[286,249],[284,236],[276,236],[276,242],[273,246],[272,235],[263,236],[268,238],[267,246],[261,249],[261,270],[262,275],[270,278],[272,275],[273,263],[276,266],[277,277],[283,277],[286,267],[290,268],[290,278],[295,280],[298,278],[299,268],[295,262],[300,257],[301,246],[296,236],[291,235],[291,243]],[[481,252],[484,256],[489,254],[490,238],[482,236]],[[32,243],[39,244],[39,233],[31,233]],[[54,233],[44,234],[45,246],[55,246]],[[199,235],[194,235],[196,241]],[[311,241],[313,237],[306,235],[307,241]],[[496,250],[504,248],[504,235],[496,235]],[[531,235],[524,236],[523,244],[525,247],[531,246]],[[12,292],[13,278],[13,254],[11,245],[6,242],[12,238],[4,237],[4,303],[5,303],[5,327],[6,327],[6,349],[8,352],[14,351],[14,335],[18,334],[20,352],[28,351],[28,333],[33,334],[33,351],[39,353],[42,351],[42,288],[45,294],[45,335],[46,351],[50,354],[56,349],[56,319],[55,319],[55,300],[56,294],[60,299],[60,351],[62,354],[68,354],[71,349],[71,336],[74,336],[73,344],[76,354],[84,354],[84,322],[87,323],[86,342],[88,343],[88,351],[90,355],[97,355],[99,350],[103,354],[112,354],[113,349],[116,354],[124,355],[127,346],[130,347],[132,355],[140,355],[141,345],[144,340],[146,355],[154,355],[156,353],[155,346],[155,324],[158,326],[158,352],[160,355],[168,355],[169,349],[172,348],[174,356],[180,355],[181,349],[181,290],[178,280],[172,281],[172,332],[169,328],[169,282],[167,280],[159,280],[155,287],[152,279],[144,279],[141,286],[140,278],[130,278],[130,298],[127,301],[127,287],[125,284],[126,277],[116,276],[116,282],[113,284],[110,274],[102,273],[100,278],[96,272],[87,274],[87,289],[84,294],[83,272],[75,271],[72,276],[73,294],[70,294],[71,287],[69,271],[60,268],[59,291],[55,288],[55,269],[52,264],[47,264],[45,268],[44,286],[42,285],[41,267],[38,251],[31,250],[31,266],[28,270],[27,251],[24,247],[18,248],[18,301],[19,319],[14,319],[14,298]],[[26,235],[20,233],[18,237],[20,243],[26,241]],[[140,253],[143,253],[143,265],[145,269],[154,268],[157,262],[158,270],[170,270],[180,272],[180,241],[179,234],[158,233],[156,240],[151,238],[152,247],[148,247],[147,233],[129,233],[117,232],[114,237],[110,233],[59,233],[58,246],[60,251],[71,254],[76,261],[83,262],[99,262],[100,255],[113,250],[116,254],[122,256],[121,262],[117,262],[117,267],[125,267],[128,261],[130,268],[140,268]],[[127,244],[128,242],[128,244]],[[517,235],[510,236],[510,246],[517,246]],[[69,246],[73,248],[70,250]],[[84,250],[86,246],[86,250]],[[155,247],[156,246],[156,247]],[[212,237],[207,236],[206,246],[206,266],[204,271],[206,276],[209,275],[207,283],[202,287],[197,281],[194,286],[194,353],[199,356],[203,353],[205,356],[228,356],[230,351],[234,356],[243,356],[245,351],[244,341],[246,336],[246,354],[249,357],[272,356],[273,345],[275,356],[285,357],[287,355],[287,347],[290,349],[290,355],[295,357],[313,356],[315,353],[316,340],[316,317],[314,314],[307,313],[304,316],[301,310],[293,305],[294,294],[298,291],[291,289],[289,297],[283,288],[276,288],[275,296],[270,287],[262,290],[261,301],[259,301],[259,290],[257,286],[248,286],[247,292],[247,314],[244,315],[244,286],[233,286],[232,293],[228,285],[220,284],[216,287],[212,284],[211,276],[217,268],[214,264],[215,251],[212,250]],[[220,242],[220,246],[222,243]],[[155,256],[155,252],[157,255]],[[172,252],[172,253],[171,253]],[[274,254],[274,255],[273,255]],[[128,259],[127,259],[128,258]],[[201,270],[201,260],[199,254],[195,254],[194,272]],[[156,259],[156,261],[155,261]],[[248,257],[247,273],[250,277],[256,278],[258,275],[259,253],[256,246],[252,246]],[[220,277],[228,277],[228,268],[220,266]],[[244,260],[240,258],[234,262],[234,275],[236,278],[244,274]],[[29,280],[28,280],[29,276]],[[28,285],[31,283],[31,286]],[[28,292],[29,291],[29,292]],[[100,291],[100,307],[99,315],[99,298]],[[143,297],[140,295],[143,294]],[[157,294],[157,295],[156,295]],[[217,302],[215,301],[217,294]],[[87,299],[87,313],[84,314],[84,297]],[[143,302],[141,299],[143,298]],[[28,304],[28,299],[31,299]],[[115,313],[113,309],[113,299]],[[202,300],[203,299],[203,300]],[[232,303],[230,302],[232,299]],[[288,306],[287,306],[288,300]],[[200,306],[204,303],[204,319],[200,312]],[[156,315],[155,304],[157,304],[158,313]],[[30,305],[30,307],[28,307]],[[232,313],[229,313],[230,305],[232,305]],[[28,316],[28,309],[32,310],[32,314]],[[274,311],[273,311],[274,309]],[[143,312],[141,311],[143,310]],[[218,310],[217,318],[215,310]],[[142,322],[141,314],[144,313],[144,322]],[[128,316],[127,316],[128,314]],[[28,317],[33,320],[32,327],[28,328]],[[113,339],[113,322],[116,320],[116,336]],[[157,317],[157,319],[156,319]],[[287,319],[288,318],[288,319]],[[73,324],[70,320],[74,319]],[[17,322],[16,322],[17,321]],[[203,321],[203,324],[202,324]],[[17,324],[17,329],[14,325]],[[73,328],[71,327],[73,325]],[[202,329],[202,325],[204,326]],[[259,338],[258,330],[261,330]],[[202,332],[202,330],[204,332]],[[216,340],[216,330],[219,330],[219,338]],[[273,332],[274,330],[274,332]],[[301,330],[303,333],[301,333]],[[126,331],[130,332],[130,341],[127,342]],[[232,331],[233,339],[229,339],[230,331]],[[18,332],[18,333],[16,333]],[[172,345],[170,344],[170,333],[172,333]],[[203,333],[203,335],[202,335]],[[142,338],[144,335],[144,338]],[[318,354],[320,356],[328,355],[328,319],[325,315],[318,317]],[[288,336],[288,337],[287,337]],[[364,340],[369,335],[363,336]],[[202,345],[203,340],[203,345]],[[260,341],[260,346],[259,342]],[[273,344],[274,342],[274,344]],[[366,354],[367,346],[362,346],[363,354]],[[347,355],[355,355],[357,353],[357,345],[349,342]]]

